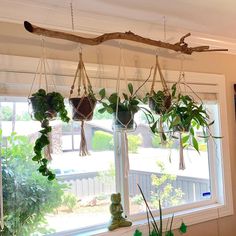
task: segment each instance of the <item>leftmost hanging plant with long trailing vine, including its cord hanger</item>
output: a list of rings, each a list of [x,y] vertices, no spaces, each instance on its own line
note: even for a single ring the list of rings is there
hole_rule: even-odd
[[[36,92],[32,93],[32,89],[34,88],[34,83],[36,80],[33,80],[30,96],[28,98],[29,104],[32,107],[32,118],[39,121],[41,123],[41,130],[39,131],[40,136],[36,139],[34,145],[34,157],[33,161],[39,163],[38,171],[47,176],[48,180],[53,180],[55,178],[55,174],[48,168],[48,162],[51,160],[50,155],[50,138],[49,135],[51,133],[52,127],[49,125],[49,121],[55,119],[57,116],[64,122],[69,122],[69,117],[67,116],[67,111],[65,109],[64,97],[58,92],[48,92],[48,78],[46,73],[47,64],[45,53],[44,53],[44,42],[42,42],[42,50],[43,56],[39,60],[38,68],[43,68],[43,71],[40,71],[39,85],[42,82],[42,75],[44,75],[45,79],[45,89],[39,88]],[[53,82],[55,87],[55,83]],[[44,151],[44,153],[43,153]]]

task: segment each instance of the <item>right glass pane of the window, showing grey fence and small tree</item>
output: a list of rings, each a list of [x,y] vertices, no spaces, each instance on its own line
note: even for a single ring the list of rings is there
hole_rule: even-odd
[[[179,170],[178,139],[162,145],[142,117],[142,113],[136,115],[137,129],[128,134],[130,214],[146,210],[137,184],[153,209],[158,209],[159,199],[163,208],[209,199],[207,143],[199,139],[200,153],[184,150],[186,169]]]

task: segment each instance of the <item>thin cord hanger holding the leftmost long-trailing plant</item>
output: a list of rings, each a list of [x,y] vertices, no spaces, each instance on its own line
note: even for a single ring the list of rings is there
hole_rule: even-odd
[[[41,37],[41,50],[42,50],[41,57],[39,58],[39,62],[38,62],[36,72],[34,74],[34,78],[33,78],[33,81],[32,81],[31,87],[30,87],[30,92],[28,95],[29,106],[30,106],[30,104],[32,106],[32,102],[31,102],[30,98],[31,98],[33,91],[36,91],[37,89],[44,88],[46,93],[48,94],[50,92],[50,87],[52,87],[52,89],[51,89],[52,91],[57,91],[56,83],[55,83],[54,78],[52,76],[50,79],[52,81],[52,84],[49,84],[48,75],[50,74],[50,66],[47,61],[45,42],[42,37]],[[47,71],[48,71],[48,73],[47,73]],[[37,86],[37,78],[38,78],[38,86]],[[29,113],[30,113],[32,120],[35,120],[32,109],[31,109],[31,112],[29,112]],[[51,120],[54,119],[56,116],[56,114],[54,114],[50,110],[47,111],[47,114],[48,114],[48,117],[51,117],[50,118]],[[41,124],[41,126],[43,126],[43,124]],[[51,134],[49,134],[49,135],[51,135]],[[51,137],[49,137],[49,139],[50,138]],[[45,157],[47,160],[49,160],[49,161],[52,160],[50,145],[47,145],[45,147],[44,154],[45,154]]]

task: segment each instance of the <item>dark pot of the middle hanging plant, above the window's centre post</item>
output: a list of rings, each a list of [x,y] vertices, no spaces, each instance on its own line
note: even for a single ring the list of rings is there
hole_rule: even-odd
[[[114,127],[116,130],[134,129],[134,114],[131,111],[118,111],[114,113]]]

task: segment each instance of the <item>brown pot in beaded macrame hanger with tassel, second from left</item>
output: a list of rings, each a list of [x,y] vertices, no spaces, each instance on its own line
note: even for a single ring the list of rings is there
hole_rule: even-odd
[[[77,95],[72,97],[75,86],[77,86]],[[72,106],[72,119],[81,121],[80,156],[86,156],[89,152],[85,138],[84,122],[92,120],[97,100],[85,70],[82,53],[79,54],[79,63],[71,86],[69,102]]]

